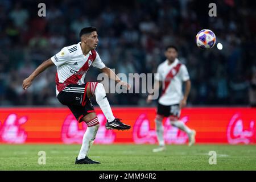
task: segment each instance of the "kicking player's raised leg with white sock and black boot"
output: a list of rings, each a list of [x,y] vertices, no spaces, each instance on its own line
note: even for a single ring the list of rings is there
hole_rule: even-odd
[[[109,105],[104,86],[98,82],[90,82],[90,93],[96,97],[97,104],[107,118],[106,129],[129,130],[131,126],[121,122],[121,119],[115,118]]]

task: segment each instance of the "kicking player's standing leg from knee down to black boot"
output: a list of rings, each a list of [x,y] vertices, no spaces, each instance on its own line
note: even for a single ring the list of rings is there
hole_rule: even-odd
[[[100,127],[96,114],[90,113],[88,115],[83,118],[83,121],[86,122],[88,127],[85,131],[84,137],[82,138],[82,147],[79,152],[79,156],[76,158],[75,164],[100,164],[100,162],[89,159],[87,156],[90,146],[92,146],[96,137],[98,128]]]

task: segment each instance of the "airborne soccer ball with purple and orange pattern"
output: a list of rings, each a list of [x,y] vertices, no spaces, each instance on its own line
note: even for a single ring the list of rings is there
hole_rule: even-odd
[[[196,45],[201,49],[210,49],[216,43],[216,36],[213,31],[204,29],[196,35]]]

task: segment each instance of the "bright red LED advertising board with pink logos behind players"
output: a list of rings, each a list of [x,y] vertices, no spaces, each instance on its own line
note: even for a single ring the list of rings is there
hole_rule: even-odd
[[[96,108],[101,124],[94,143],[155,144],[153,107],[113,107],[115,117],[132,126],[129,131],[106,130],[106,118]],[[243,107],[193,107],[180,120],[195,129],[196,143],[255,144],[256,109]],[[164,119],[167,144],[185,144],[187,135]],[[86,130],[66,108],[1,108],[0,143],[81,143]]]

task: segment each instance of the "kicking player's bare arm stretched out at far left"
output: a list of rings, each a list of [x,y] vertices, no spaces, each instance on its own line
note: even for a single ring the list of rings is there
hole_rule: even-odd
[[[35,79],[36,76],[38,76],[40,73],[45,71],[47,68],[54,65],[51,59],[48,59],[44,61],[42,64],[39,65],[38,68],[35,69],[33,73],[29,77],[27,77],[25,80],[23,80],[22,88],[24,90],[27,90],[28,87],[32,84],[32,81]]]

